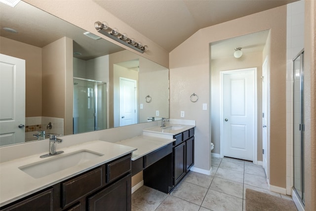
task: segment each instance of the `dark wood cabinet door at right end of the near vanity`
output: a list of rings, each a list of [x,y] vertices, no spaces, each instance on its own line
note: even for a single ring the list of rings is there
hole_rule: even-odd
[[[130,174],[89,197],[88,211],[131,211]]]

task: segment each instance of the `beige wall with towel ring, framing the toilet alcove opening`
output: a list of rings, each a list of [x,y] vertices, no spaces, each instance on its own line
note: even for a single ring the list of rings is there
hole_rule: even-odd
[[[226,23],[199,30],[170,52],[170,117],[197,121],[195,167],[209,170],[210,128],[208,111],[201,103],[209,101],[209,43],[263,30],[271,30],[271,122],[270,183],[285,188],[285,77],[286,77],[286,6],[266,10]],[[197,103],[190,103],[195,92]],[[205,162],[206,160],[206,162]]]

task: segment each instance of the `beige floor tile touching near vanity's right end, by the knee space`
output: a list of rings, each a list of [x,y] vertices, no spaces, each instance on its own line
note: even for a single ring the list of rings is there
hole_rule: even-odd
[[[132,194],[132,205],[143,211],[155,211],[167,194],[142,186]]]

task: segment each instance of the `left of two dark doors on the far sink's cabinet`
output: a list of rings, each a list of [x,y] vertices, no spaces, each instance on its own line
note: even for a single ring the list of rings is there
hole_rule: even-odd
[[[186,142],[173,148],[174,152],[174,185],[186,174]]]

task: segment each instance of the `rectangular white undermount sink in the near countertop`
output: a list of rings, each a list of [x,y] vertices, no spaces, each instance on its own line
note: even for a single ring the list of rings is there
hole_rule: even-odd
[[[100,156],[103,156],[103,154],[89,150],[80,150],[73,153],[58,155],[58,157],[52,156],[48,160],[22,166],[19,167],[19,169],[34,178],[41,178],[83,164]]]

